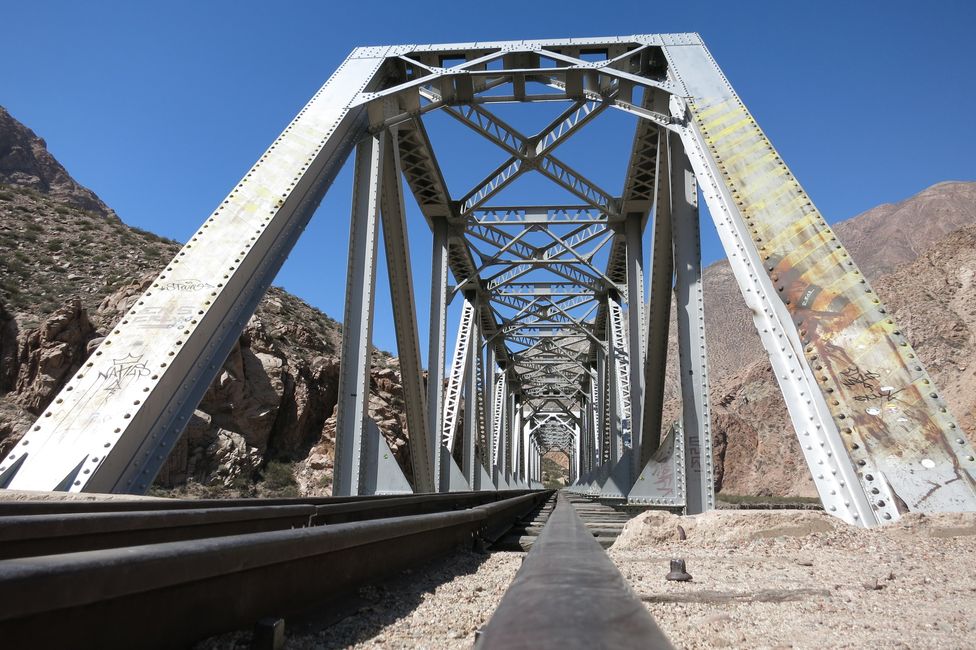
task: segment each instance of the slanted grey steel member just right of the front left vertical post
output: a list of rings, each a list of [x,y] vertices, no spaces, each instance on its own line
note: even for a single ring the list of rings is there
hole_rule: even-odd
[[[417,310],[410,272],[410,241],[407,236],[406,210],[403,207],[403,185],[400,180],[400,151],[396,129],[386,138],[383,157],[383,243],[386,269],[390,279],[390,302],[396,330],[400,380],[410,439],[415,492],[435,492],[433,449],[424,404],[424,379],[420,367],[420,338],[417,333]],[[436,420],[434,421],[436,422]],[[432,424],[432,423],[431,423]]]

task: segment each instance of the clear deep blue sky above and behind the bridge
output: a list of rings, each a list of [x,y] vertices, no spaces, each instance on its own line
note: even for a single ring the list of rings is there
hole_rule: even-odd
[[[976,178],[974,6],[0,0],[0,104],[127,223],[183,241],[353,47],[697,31],[837,221]],[[444,122],[430,128],[449,181],[465,184],[500,160],[457,146]],[[613,136],[627,124],[608,116],[594,124],[606,146],[569,143],[560,155],[598,178],[619,172],[627,152],[613,157],[610,145],[629,144],[629,134]],[[347,165],[276,281],[336,319],[350,181]],[[416,210],[411,219],[426,341],[430,237]],[[704,236],[706,261],[722,257],[714,234]],[[374,340],[395,350],[382,269],[378,285]]]

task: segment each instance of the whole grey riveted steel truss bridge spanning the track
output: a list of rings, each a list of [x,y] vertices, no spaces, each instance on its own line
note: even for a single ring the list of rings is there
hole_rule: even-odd
[[[513,102],[564,110],[525,133],[499,116]],[[504,162],[448,188],[424,125],[435,111]],[[637,118],[620,193],[557,151],[612,111]],[[541,455],[560,449],[574,490],[711,508],[700,195],[826,510],[871,526],[976,509],[972,443],[696,34],[356,49],[0,463],[0,486],[144,492],[352,154],[337,495],[541,487]],[[526,174],[573,201],[505,205]],[[433,237],[428,382],[401,179]],[[412,485],[367,415],[380,231]],[[661,415],[672,307],[673,424]]]

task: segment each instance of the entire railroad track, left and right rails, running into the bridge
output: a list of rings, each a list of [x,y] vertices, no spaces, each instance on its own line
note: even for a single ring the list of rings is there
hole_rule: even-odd
[[[478,647],[667,648],[603,550],[630,516],[525,490],[0,502],[0,639],[181,647],[335,602],[459,547],[515,544],[531,552]],[[266,643],[254,647],[280,647],[255,629]]]

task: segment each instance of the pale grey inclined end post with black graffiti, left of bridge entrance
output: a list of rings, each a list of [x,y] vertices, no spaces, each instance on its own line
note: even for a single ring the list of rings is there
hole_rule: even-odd
[[[350,55],[0,462],[0,485],[144,492],[343,161],[386,49]]]

